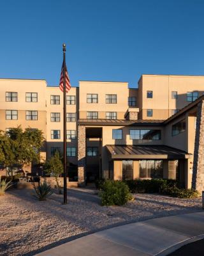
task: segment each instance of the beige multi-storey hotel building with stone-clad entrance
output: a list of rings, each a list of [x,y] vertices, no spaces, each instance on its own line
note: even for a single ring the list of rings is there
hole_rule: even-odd
[[[128,83],[80,81],[66,97],[69,180],[178,179],[204,189],[204,76],[142,75]],[[45,80],[0,79],[0,129],[45,136],[43,159],[62,153],[63,102]]]

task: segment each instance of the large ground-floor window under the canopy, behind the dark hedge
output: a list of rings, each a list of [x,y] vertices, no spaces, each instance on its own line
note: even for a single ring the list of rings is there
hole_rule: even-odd
[[[163,160],[140,160],[140,178],[163,178]]]

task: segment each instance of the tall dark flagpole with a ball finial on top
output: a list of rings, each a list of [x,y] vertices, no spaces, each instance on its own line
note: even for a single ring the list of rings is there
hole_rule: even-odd
[[[64,159],[64,204],[68,203],[68,195],[67,195],[67,182],[66,182],[66,177],[67,177],[67,172],[66,172],[66,60],[65,60],[65,52],[66,52],[66,44],[63,44],[63,70],[64,70],[64,118],[63,118],[63,122],[64,122],[64,130],[63,130],[63,159]]]

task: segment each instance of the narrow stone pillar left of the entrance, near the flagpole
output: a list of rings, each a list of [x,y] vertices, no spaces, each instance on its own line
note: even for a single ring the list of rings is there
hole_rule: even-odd
[[[78,125],[78,186],[85,186],[85,126]]]

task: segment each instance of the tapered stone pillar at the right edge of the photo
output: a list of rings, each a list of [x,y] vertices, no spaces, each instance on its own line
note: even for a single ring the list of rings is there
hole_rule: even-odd
[[[192,188],[204,190],[204,100],[198,104],[194,144]]]

